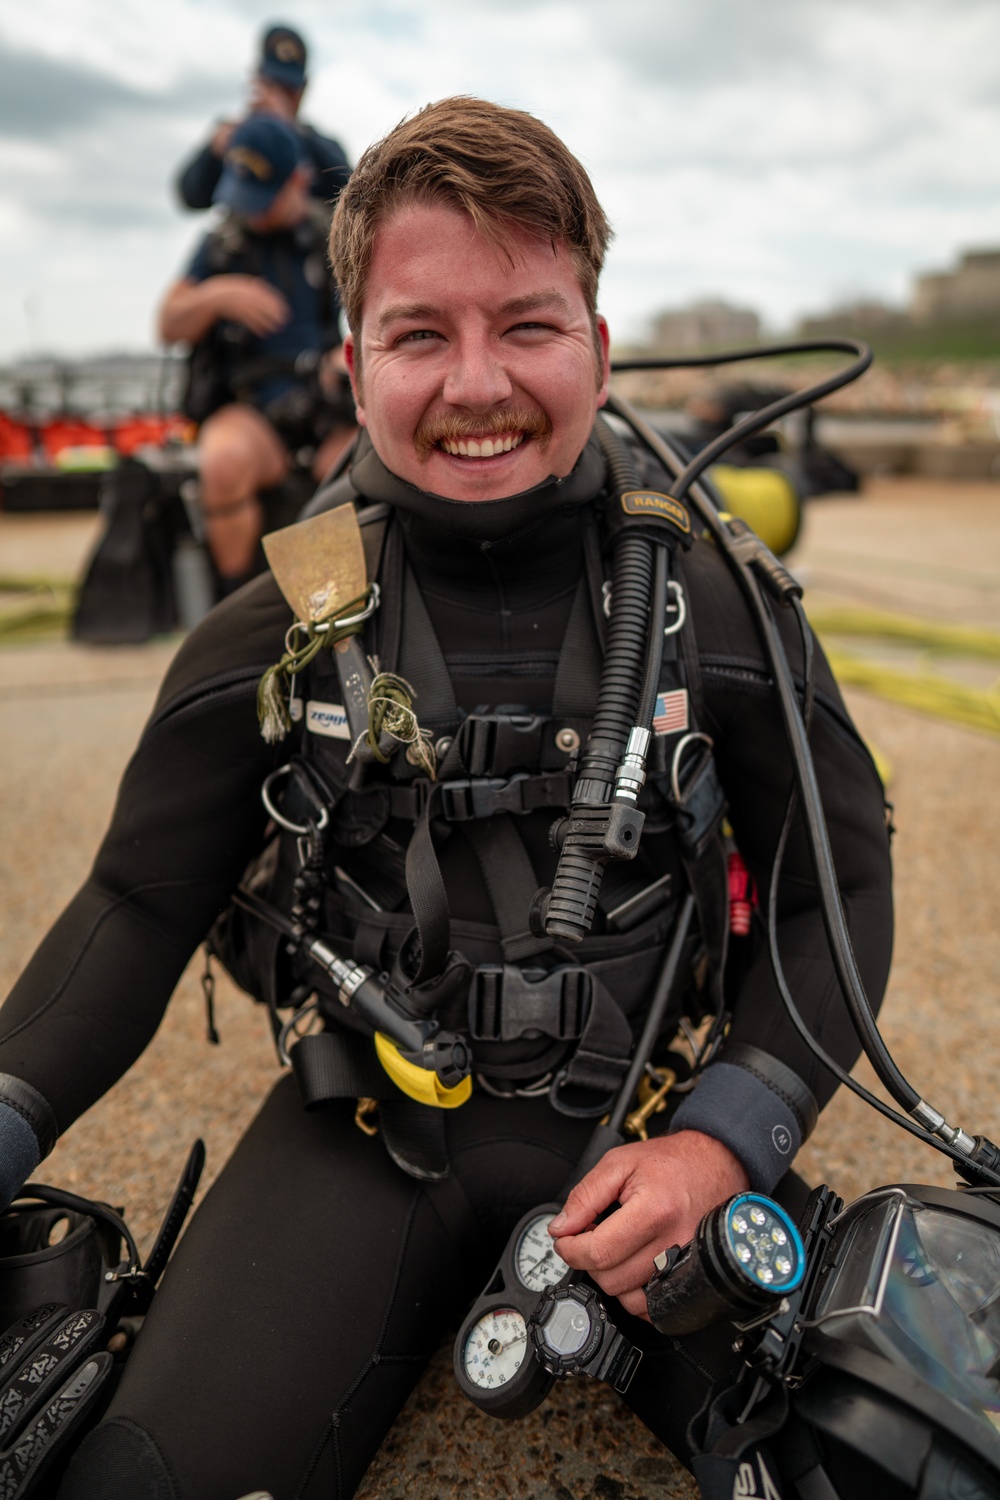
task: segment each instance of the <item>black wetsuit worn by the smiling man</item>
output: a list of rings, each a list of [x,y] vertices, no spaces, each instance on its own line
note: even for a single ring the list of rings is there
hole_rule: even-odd
[[[594,446],[559,484],[487,506],[421,495],[373,453],[354,476],[369,500],[396,507],[459,704],[544,708],[582,568],[582,519],[603,483]],[[739,846],[766,890],[790,784],[777,704],[742,600],[711,544],[694,546],[685,579],[703,728],[715,738]],[[181,968],[261,848],[261,782],[289,744],[261,740],[255,692],[289,618],[268,574],[184,644],[93,873],[0,1016],[0,1071],[31,1084],[63,1130],[148,1042]],[[795,666],[795,630],[784,621],[781,628]],[[505,674],[493,664],[483,676],[483,663],[496,658],[507,660]],[[852,940],[877,999],[892,928],[882,790],[825,663],[813,750]],[[550,820],[523,819],[537,830]],[[553,856],[544,837],[526,831],[525,843],[546,884]],[[450,840],[441,864],[457,930],[489,930],[492,908],[462,840]],[[823,1046],[850,1064],[858,1046],[837,996],[801,828],[786,855],[780,910],[792,988]],[[732,1036],[792,1068],[820,1106],[832,1094],[784,1017],[763,952],[742,981]],[[504,1236],[559,1192],[591,1130],[544,1098],[475,1090],[448,1112],[454,1176],[481,1226],[474,1240],[454,1202],[405,1176],[379,1140],[354,1128],[352,1113],[349,1101],[306,1113],[291,1078],[277,1084],[192,1221],[112,1407],[60,1494],[351,1494]],[[718,1131],[730,1143],[732,1124],[720,1120]],[[747,1118],[736,1124],[745,1136],[757,1128]],[[732,1359],[730,1338],[726,1329],[685,1341],[648,1329],[639,1336],[649,1353],[628,1400],[684,1455],[687,1420]]]

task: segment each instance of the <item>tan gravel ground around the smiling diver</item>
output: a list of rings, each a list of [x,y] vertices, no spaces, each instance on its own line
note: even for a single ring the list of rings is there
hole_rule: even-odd
[[[90,516],[1,516],[0,573],[67,573]],[[1000,628],[1000,486],[873,482],[865,498],[813,504],[792,566],[807,604],[855,602]],[[177,642],[0,652],[0,980],[9,981],[85,874],[121,766]],[[993,1138],[1000,1054],[1000,740],[850,696],[892,766],[897,950],[883,1011],[904,1070],[949,1119]],[[127,1206],[148,1244],[196,1134],[208,1178],[276,1077],[267,1026],[225,980],[222,1046],[205,1044],[198,963],[130,1074],[66,1132],[45,1178]],[[861,1077],[868,1070],[861,1065]],[[844,1197],[894,1180],[948,1184],[943,1158],[841,1094],[799,1158]],[[687,1473],[603,1388],[570,1386],[508,1434],[456,1398],[442,1346],[360,1494],[639,1500],[697,1494]],[[514,1434],[511,1434],[514,1436]],[[489,1456],[487,1456],[489,1455]]]

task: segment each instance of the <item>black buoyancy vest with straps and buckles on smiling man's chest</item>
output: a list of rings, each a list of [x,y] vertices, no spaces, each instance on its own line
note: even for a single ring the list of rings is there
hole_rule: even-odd
[[[357,494],[346,480],[328,496],[330,504],[352,500]],[[570,1056],[571,1083],[607,1095],[625,1068],[663,963],[685,860],[666,796],[664,735],[654,742],[643,794],[640,855],[609,866],[595,930],[565,946],[528,930],[532,897],[552,879],[556,854],[547,834],[570,804],[576,753],[586,742],[600,684],[604,574],[595,507],[577,507],[567,522],[579,531],[583,566],[571,580],[562,639],[543,642],[558,646],[550,652],[550,700],[529,710],[508,702],[519,690],[517,663],[501,651],[492,662],[477,657],[478,674],[489,676],[490,668],[495,674],[499,706],[459,706],[399,514],[376,504],[361,508],[358,519],[369,576],[378,576],[382,596],[364,650],[378,657],[381,670],[400,674],[415,688],[418,720],[436,742],[439,771],[430,782],[400,750],[388,765],[369,766],[363,786],[351,789],[340,676],[334,654],[321,651],[297,690],[303,748],[283,783],[289,820],[307,819],[310,802],[324,804],[330,816],[321,852],[313,854],[309,920],[339,951],[376,972],[402,969],[412,976],[420,963],[435,972],[457,950],[466,962],[463,982],[442,990],[435,1012],[444,1026],[469,1034],[480,1076],[513,1088]],[[685,634],[690,658],[690,626]],[[427,884],[441,880],[459,906],[457,915],[445,909],[444,921],[421,912],[420,872],[414,878],[418,842],[424,862],[430,861]],[[256,879],[259,888],[265,880],[271,898],[288,908],[297,880],[301,896],[301,840],[276,838],[250,884]],[[301,900],[297,914],[306,914]],[[301,996],[295,981],[316,984],[312,966],[307,974],[282,974],[279,948],[268,944],[273,962],[265,975],[258,963],[255,982],[235,975],[273,1006]],[[231,950],[228,944],[226,962]],[[697,999],[691,1004],[697,1010]],[[336,1004],[324,1010],[352,1024]],[[676,1026],[678,1014],[679,1005],[664,1029]]]

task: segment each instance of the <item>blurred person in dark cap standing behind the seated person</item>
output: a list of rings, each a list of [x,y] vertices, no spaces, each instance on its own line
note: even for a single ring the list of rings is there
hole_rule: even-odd
[[[247,114],[273,114],[286,120],[298,134],[303,160],[312,166],[309,190],[322,202],[333,202],[351,176],[351,165],[339,141],[319,135],[298,118],[306,92],[306,44],[291,26],[270,27],[261,40],[261,58],[250,80]],[[222,177],[222,162],[237,129],[235,120],[222,120],[177,176],[177,194],[187,208],[210,208]]]

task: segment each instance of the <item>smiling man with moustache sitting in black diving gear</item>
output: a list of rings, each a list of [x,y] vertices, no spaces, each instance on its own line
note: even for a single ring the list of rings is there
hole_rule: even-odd
[[[364,430],[313,510],[357,512],[381,588],[363,652],[301,663],[288,732],[271,726],[265,741],[258,682],[285,650],[289,606],[264,576],[214,610],[168,674],[90,880],[0,1016],[7,1194],[40,1142],[145,1046],[219,914],[213,940],[237,980],[276,1016],[318,988],[327,1026],[292,1047],[301,1098],[286,1074],[195,1215],[63,1500],[352,1494],[511,1227],[562,1194],[628,1066],[685,892],[669,756],[696,714],[768,888],[789,759],[751,621],[699,540],[681,560],[684,712],[657,728],[640,852],[609,867],[580,944],[529,922],[603,672],[621,508],[613,441],[595,434],[607,237],[567,147],[534,117],[475,99],[403,122],[340,198],[331,255]],[[642,482],[666,477],[645,464]],[[309,525],[291,534],[303,566],[312,537]],[[417,722],[396,720],[394,747],[352,744],[345,704],[366,656],[384,674],[369,711],[415,708]],[[813,748],[855,952],[879,996],[891,948],[882,790],[825,664]],[[291,944],[229,906],[241,879]],[[778,912],[801,1008],[850,1065],[858,1047],[798,826]],[[682,1014],[723,999],[724,1046],[654,1118],[652,1138],[607,1152],[550,1226],[558,1254],[634,1316],[646,1358],[628,1401],[681,1456],[690,1418],[733,1364],[732,1330],[652,1335],[640,1318],[654,1256],[748,1184],[793,1200],[795,1150],[832,1094],[786,1020],[765,945],[739,944],[721,972],[724,915],[703,912],[658,1056]],[[405,1071],[393,1072],[400,1088],[388,1082],[372,1026],[346,1008],[354,980],[327,984],[304,951],[313,936],[382,975],[411,1020],[433,1016],[460,1038],[472,1086],[447,1086],[453,1107],[427,1102]]]

